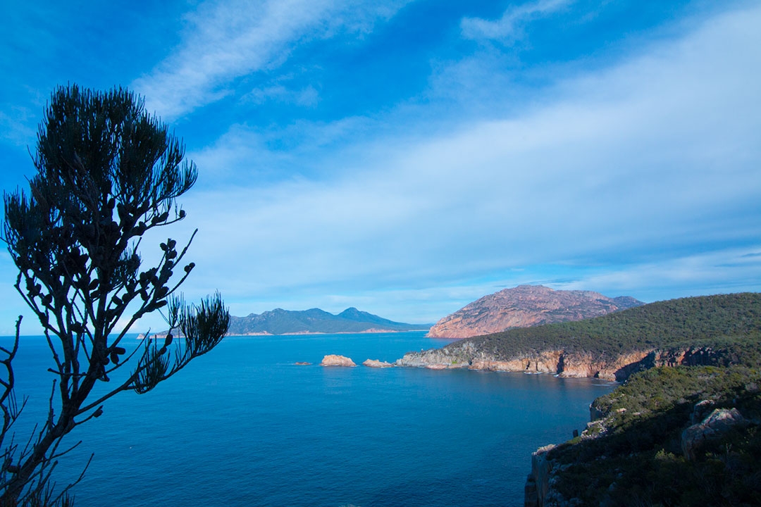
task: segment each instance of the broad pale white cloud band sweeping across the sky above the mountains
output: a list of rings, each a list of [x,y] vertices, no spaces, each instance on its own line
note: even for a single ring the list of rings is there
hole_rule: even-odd
[[[714,19],[563,82],[514,119],[412,145],[401,131],[361,144],[357,159],[319,147],[295,155],[296,165],[330,167],[320,179],[199,191],[186,206],[201,228],[197,283],[275,300],[336,287],[481,287],[463,280],[618,258],[657,257],[667,270],[684,249],[758,237],[759,20],[759,10]],[[245,149],[247,133],[238,135]],[[225,149],[235,152],[222,143],[204,157],[228,157]],[[725,286],[747,274],[728,268]]]

